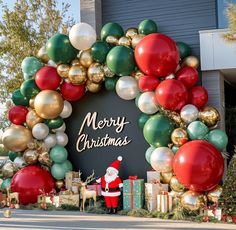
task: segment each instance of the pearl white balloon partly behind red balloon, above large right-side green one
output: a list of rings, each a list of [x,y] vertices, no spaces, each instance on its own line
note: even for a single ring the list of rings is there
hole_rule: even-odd
[[[144,92],[138,99],[138,108],[146,114],[154,114],[158,111],[157,104],[155,102],[154,92]]]

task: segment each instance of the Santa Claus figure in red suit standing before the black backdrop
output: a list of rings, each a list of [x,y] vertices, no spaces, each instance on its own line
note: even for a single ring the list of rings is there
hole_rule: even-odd
[[[106,170],[106,174],[97,180],[97,183],[101,183],[102,196],[104,196],[107,213],[116,214],[118,201],[120,196],[120,188],[123,187],[123,183],[118,176],[120,162],[122,157],[119,156]]]

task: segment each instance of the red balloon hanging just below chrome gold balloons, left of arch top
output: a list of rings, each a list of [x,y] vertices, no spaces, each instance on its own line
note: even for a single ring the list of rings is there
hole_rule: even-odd
[[[67,101],[77,101],[84,95],[84,93],[84,85],[73,85],[66,81],[61,85],[61,94]]]

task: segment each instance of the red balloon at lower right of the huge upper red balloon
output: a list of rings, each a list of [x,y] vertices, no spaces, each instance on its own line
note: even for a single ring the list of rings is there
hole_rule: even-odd
[[[184,66],[176,73],[176,79],[181,81],[187,89],[192,88],[198,81],[198,72],[195,68]]]

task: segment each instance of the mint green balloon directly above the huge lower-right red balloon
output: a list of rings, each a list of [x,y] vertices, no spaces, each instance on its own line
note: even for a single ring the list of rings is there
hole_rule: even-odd
[[[208,131],[208,127],[201,121],[193,121],[187,128],[187,133],[191,140],[203,140]]]

